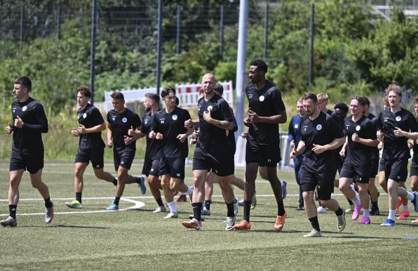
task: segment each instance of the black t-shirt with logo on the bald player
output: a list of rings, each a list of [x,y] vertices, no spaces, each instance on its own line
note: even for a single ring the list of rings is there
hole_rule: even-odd
[[[223,154],[225,150],[228,150],[228,139],[225,129],[218,128],[203,119],[203,112],[210,111],[210,116],[213,119],[219,121],[234,121],[234,113],[230,109],[228,103],[224,98],[219,95],[213,95],[210,100],[200,98],[198,100],[198,118],[200,135],[198,137],[198,145],[205,152],[217,156]],[[232,136],[234,133],[229,131]]]

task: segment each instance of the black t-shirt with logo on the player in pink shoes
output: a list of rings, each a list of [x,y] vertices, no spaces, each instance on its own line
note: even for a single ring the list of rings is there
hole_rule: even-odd
[[[346,162],[355,166],[371,163],[372,150],[370,147],[351,140],[353,133],[357,133],[359,138],[376,139],[376,128],[372,121],[362,116],[358,121],[353,121],[351,117],[344,119],[344,133],[348,140]]]

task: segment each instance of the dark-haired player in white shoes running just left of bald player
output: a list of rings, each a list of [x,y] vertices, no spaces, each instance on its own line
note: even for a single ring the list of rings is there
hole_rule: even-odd
[[[193,129],[184,128],[184,121],[190,119],[190,114],[175,105],[174,88],[164,88],[161,91],[161,98],[166,108],[154,115],[150,136],[162,140],[159,175],[164,197],[170,209],[170,213],[164,218],[177,218],[172,190],[187,192],[187,185],[182,180],[184,180],[184,165],[189,152],[187,137],[193,133]]]

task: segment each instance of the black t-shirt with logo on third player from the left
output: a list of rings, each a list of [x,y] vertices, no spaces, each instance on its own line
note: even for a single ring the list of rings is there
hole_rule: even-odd
[[[130,149],[135,151],[135,143],[130,143],[130,145],[125,145],[125,135],[128,136],[128,130],[133,127],[140,128],[141,120],[140,116],[135,112],[132,112],[128,108],[125,111],[118,113],[116,110],[110,110],[107,112],[107,122],[112,129],[112,140],[113,147],[116,152],[120,152],[125,149]]]

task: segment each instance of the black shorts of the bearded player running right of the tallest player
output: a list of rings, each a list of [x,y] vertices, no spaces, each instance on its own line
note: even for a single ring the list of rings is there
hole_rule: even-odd
[[[331,194],[334,192],[335,179],[335,164],[330,166],[323,166],[320,171],[307,168],[302,165],[300,173],[300,186],[303,192],[314,191],[317,189],[318,199],[331,199]]]

